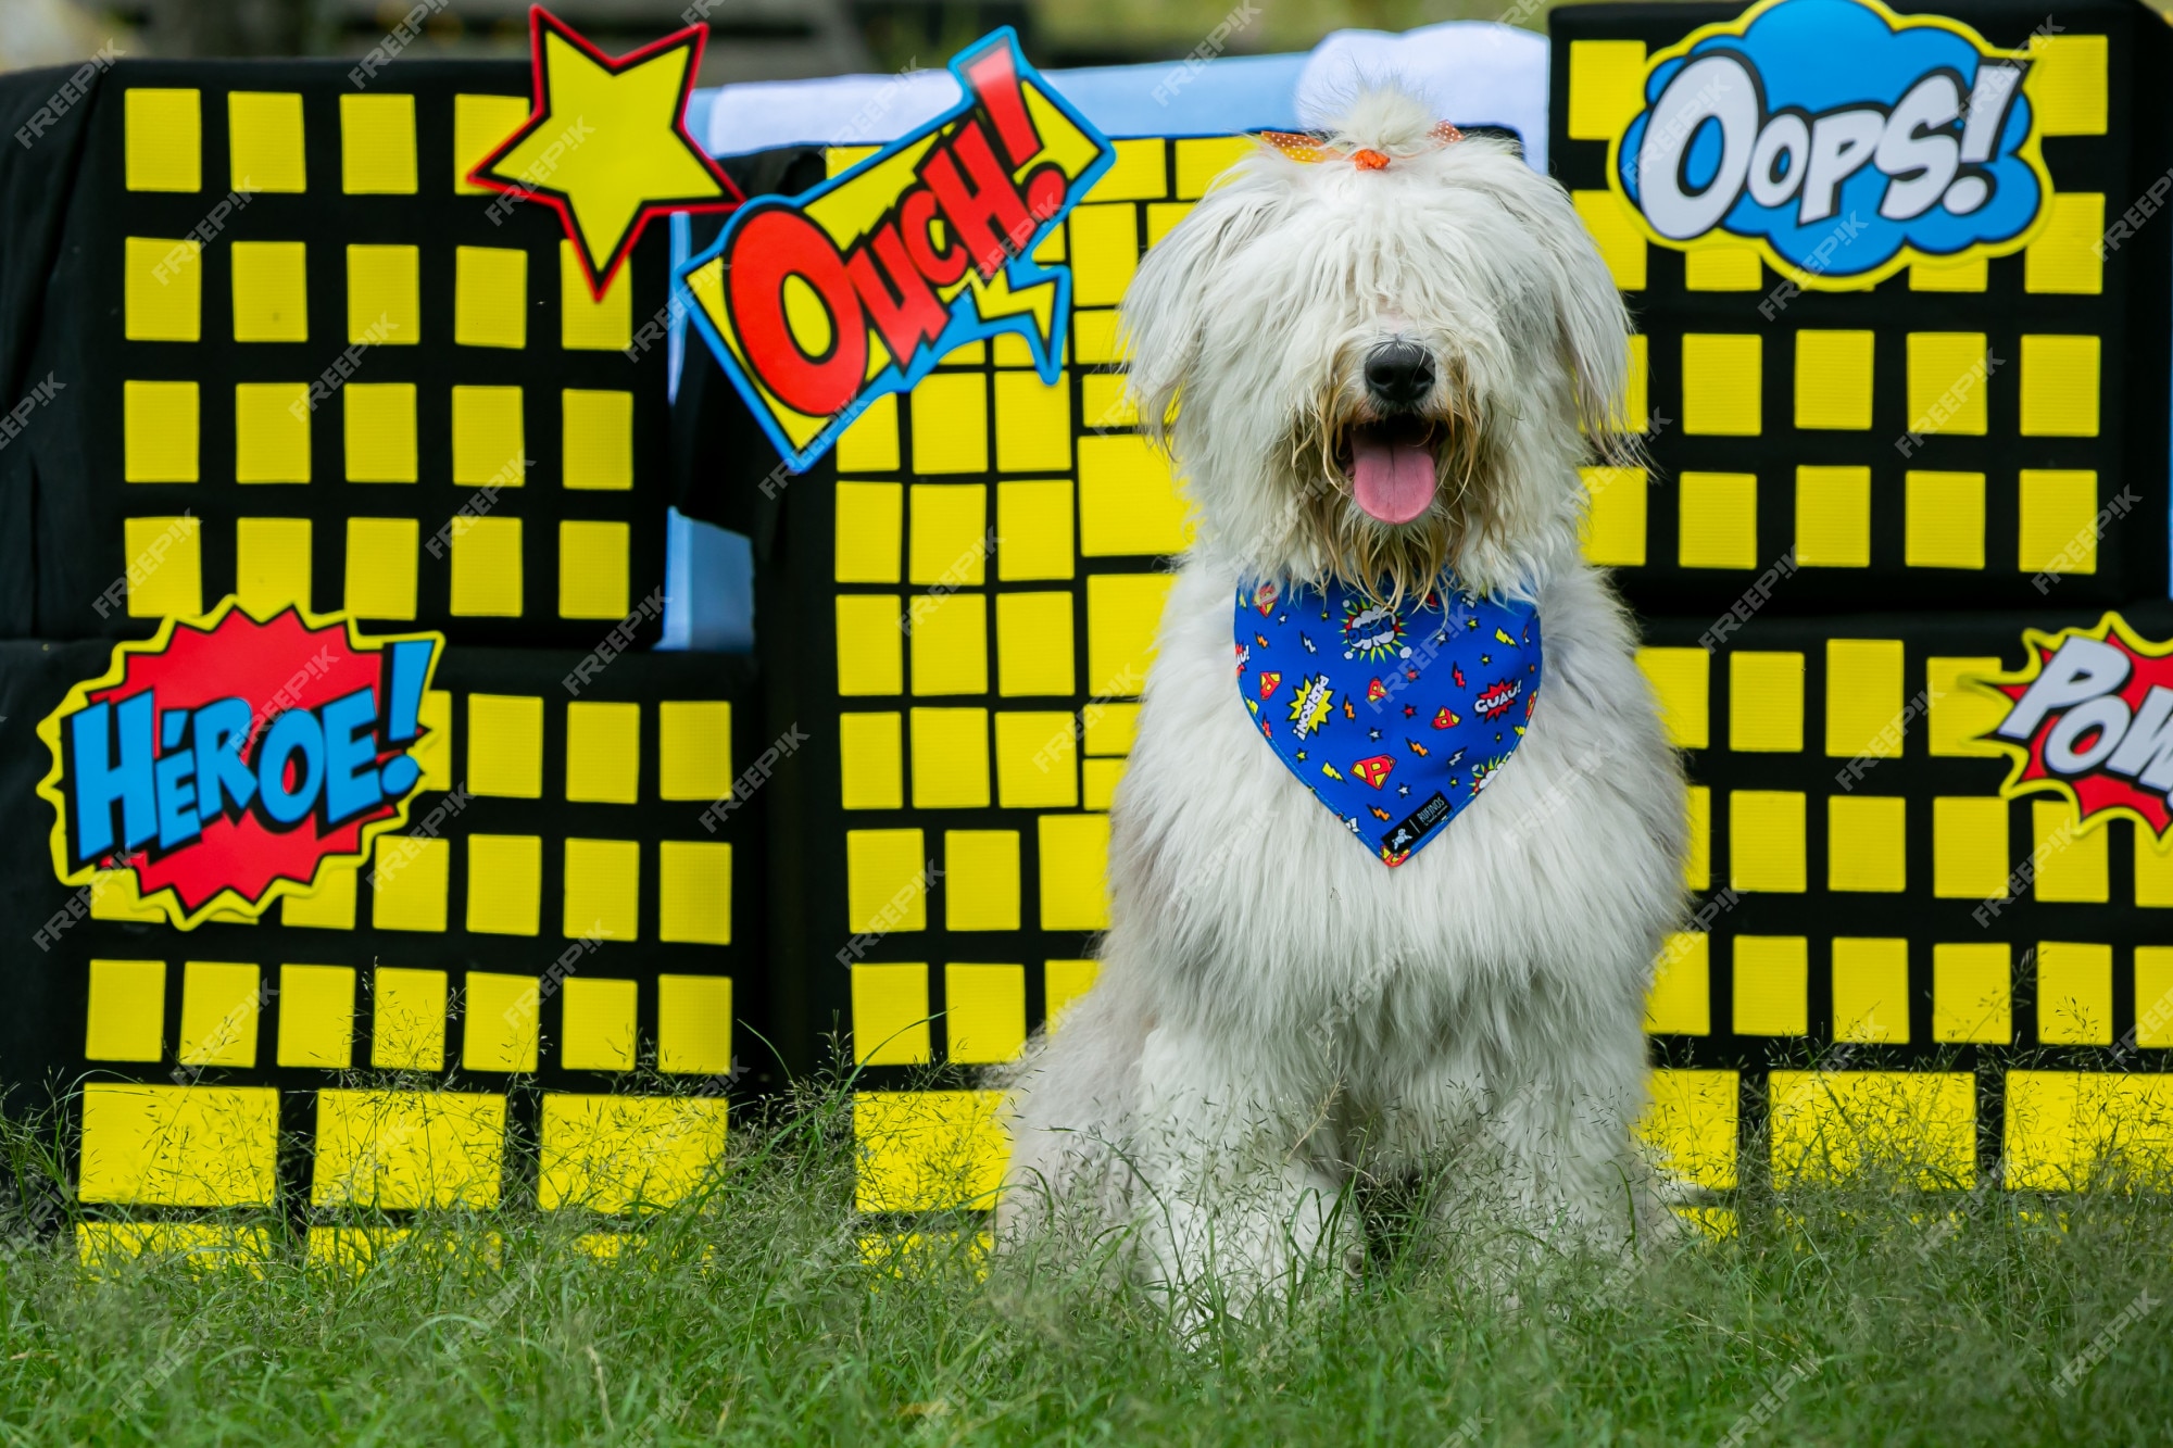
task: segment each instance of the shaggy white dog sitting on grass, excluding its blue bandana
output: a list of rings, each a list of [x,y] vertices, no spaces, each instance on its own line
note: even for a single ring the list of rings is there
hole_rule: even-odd
[[[1612,1250],[1665,1222],[1632,1124],[1684,902],[1680,763],[1578,552],[1628,317],[1569,196],[1393,89],[1280,143],[1123,298],[1197,541],[1113,807],[1100,983],[1004,1076],[997,1209],[1006,1239],[1082,1211],[1150,1281],[1236,1302],[1352,1250],[1360,1176],[1434,1174],[1462,1235]],[[1243,650],[1232,683],[1260,581],[1536,607],[1528,731],[1397,867],[1263,737]]]

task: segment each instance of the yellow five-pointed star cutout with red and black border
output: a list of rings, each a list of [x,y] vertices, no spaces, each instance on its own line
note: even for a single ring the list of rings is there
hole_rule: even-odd
[[[602,298],[652,215],[741,200],[684,126],[708,26],[613,61],[541,7],[530,17],[537,109],[469,180],[558,211]]]

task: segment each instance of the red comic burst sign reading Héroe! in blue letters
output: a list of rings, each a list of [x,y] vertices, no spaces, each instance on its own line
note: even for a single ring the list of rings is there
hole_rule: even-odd
[[[406,824],[443,644],[365,639],[298,609],[259,622],[228,600],[115,646],[113,667],[37,726],[54,872],[130,872],[183,931],[306,894],[326,859],[361,859]]]

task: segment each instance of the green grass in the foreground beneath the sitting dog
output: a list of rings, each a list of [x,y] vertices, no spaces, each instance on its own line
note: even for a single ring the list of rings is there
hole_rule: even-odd
[[[843,1122],[830,1094],[745,1128],[704,1209],[619,1261],[574,1250],[595,1222],[519,1209],[432,1220],[437,1248],[367,1272],[276,1220],[254,1270],[93,1274],[72,1237],[15,1235],[0,1441],[2173,1439],[2173,1213],[2145,1196],[1745,1191],[1734,1239],[1632,1276],[1556,1263],[1517,1305],[1389,1220],[1360,1281],[1184,1346],[1136,1289],[943,1248],[869,1270]],[[1934,1200],[1951,1228],[1912,1220]]]

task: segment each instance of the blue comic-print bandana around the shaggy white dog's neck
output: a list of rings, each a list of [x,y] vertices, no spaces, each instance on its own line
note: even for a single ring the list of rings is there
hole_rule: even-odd
[[[1538,700],[1538,609],[1462,589],[1397,609],[1341,583],[1239,585],[1236,687],[1269,748],[1384,865],[1493,781]]]

